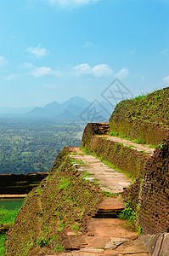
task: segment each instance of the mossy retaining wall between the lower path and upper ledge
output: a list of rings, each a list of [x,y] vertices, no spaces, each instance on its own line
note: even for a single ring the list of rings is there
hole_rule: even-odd
[[[83,148],[108,160],[130,177],[136,178],[139,173],[144,172],[145,163],[149,159],[147,154],[123,146],[121,143],[95,136],[97,134],[96,127],[96,124],[86,126],[82,137]]]

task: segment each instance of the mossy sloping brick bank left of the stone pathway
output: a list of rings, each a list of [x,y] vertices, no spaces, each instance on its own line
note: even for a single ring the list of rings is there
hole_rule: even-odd
[[[8,231],[5,255],[38,254],[44,248],[54,253],[71,247],[67,233],[81,234],[100,200],[98,186],[80,177],[64,148],[48,177],[27,195]]]

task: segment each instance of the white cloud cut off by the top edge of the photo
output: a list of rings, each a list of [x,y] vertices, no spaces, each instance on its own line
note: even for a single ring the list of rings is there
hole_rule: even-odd
[[[51,5],[59,4],[62,8],[76,8],[85,4],[96,3],[99,0],[46,0]]]

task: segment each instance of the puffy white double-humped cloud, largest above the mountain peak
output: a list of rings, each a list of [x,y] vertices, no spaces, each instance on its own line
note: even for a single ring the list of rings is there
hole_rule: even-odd
[[[107,64],[99,64],[99,65],[91,67],[87,63],[83,63],[80,65],[77,65],[75,67],[75,71],[76,71],[77,75],[93,74],[97,77],[103,77],[103,76],[109,77],[113,74],[113,70]]]

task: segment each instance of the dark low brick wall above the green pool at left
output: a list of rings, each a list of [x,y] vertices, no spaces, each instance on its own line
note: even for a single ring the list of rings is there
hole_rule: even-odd
[[[0,175],[0,195],[25,195],[37,187],[48,172]]]

